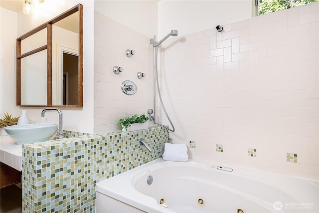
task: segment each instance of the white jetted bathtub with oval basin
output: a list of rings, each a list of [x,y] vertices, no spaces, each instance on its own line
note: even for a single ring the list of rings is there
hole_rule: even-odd
[[[96,185],[96,213],[318,213],[319,182],[158,159]]]

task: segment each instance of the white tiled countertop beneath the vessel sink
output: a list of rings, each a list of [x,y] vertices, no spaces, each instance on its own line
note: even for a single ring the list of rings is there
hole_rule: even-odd
[[[0,161],[18,171],[22,170],[22,145],[9,136],[0,137]]]

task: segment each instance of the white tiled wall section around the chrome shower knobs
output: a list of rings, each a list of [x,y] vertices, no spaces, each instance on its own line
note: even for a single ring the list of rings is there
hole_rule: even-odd
[[[120,118],[147,114],[153,108],[153,48],[150,38],[95,11],[94,132],[120,130]],[[136,54],[126,56],[126,49]],[[114,66],[124,71],[116,75]],[[137,78],[138,72],[146,77]],[[131,80],[137,84],[135,95],[128,96],[121,84]]]

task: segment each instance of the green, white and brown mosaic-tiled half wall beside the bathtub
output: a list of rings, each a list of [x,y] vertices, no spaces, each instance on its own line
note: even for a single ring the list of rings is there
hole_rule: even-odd
[[[96,183],[160,158],[167,141],[152,127],[23,145],[22,213],[94,213]]]

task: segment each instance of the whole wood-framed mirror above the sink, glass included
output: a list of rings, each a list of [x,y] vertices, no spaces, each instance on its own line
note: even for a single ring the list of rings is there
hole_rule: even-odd
[[[16,39],[16,106],[83,106],[83,5]]]

